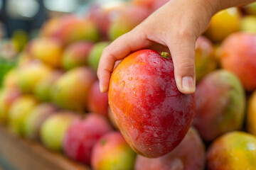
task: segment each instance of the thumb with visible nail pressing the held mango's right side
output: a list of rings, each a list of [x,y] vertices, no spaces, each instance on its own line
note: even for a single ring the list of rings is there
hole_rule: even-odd
[[[196,38],[190,36],[174,38],[168,46],[174,61],[174,75],[178,90],[183,94],[193,94],[196,91]]]

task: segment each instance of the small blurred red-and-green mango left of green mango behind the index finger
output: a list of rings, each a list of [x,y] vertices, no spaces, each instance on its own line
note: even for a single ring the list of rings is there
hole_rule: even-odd
[[[92,42],[76,42],[68,46],[63,53],[63,67],[73,69],[88,64],[88,57],[92,50]]]

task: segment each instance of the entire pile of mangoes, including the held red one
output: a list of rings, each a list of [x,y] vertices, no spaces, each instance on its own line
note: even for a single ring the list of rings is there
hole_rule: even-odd
[[[198,38],[196,94],[153,50],[126,57],[100,93],[102,50],[167,1],[51,18],[4,77],[1,124],[95,170],[256,169],[256,4],[220,11]]]

